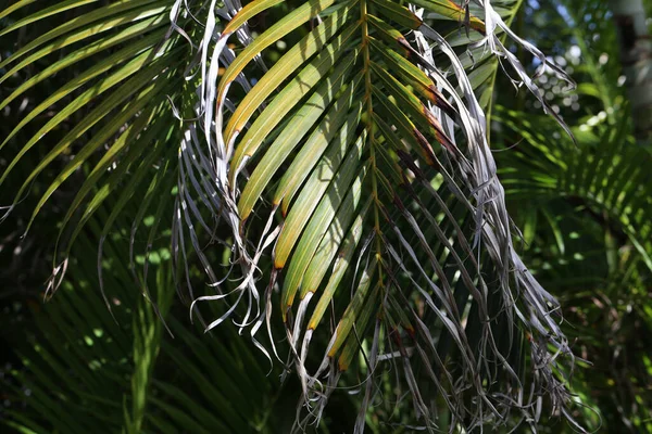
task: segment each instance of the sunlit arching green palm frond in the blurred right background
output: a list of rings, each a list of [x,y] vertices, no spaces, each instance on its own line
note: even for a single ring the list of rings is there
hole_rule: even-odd
[[[650,154],[623,139],[629,119],[622,116],[614,127],[600,123],[593,127],[587,124],[575,127],[575,135],[582,142],[577,149],[569,141],[551,143],[549,138],[554,135],[554,125],[546,118],[530,117],[529,127],[525,127],[515,112],[501,106],[497,112],[497,122],[530,144],[504,157],[513,168],[505,169],[502,178],[506,186],[514,186],[510,188],[514,200],[528,201],[536,196],[537,204],[528,207],[530,212],[544,210],[548,201],[560,197],[587,209],[593,218],[627,237],[638,260],[648,272],[652,271],[652,201],[647,194],[652,178],[644,170]],[[550,218],[547,220],[554,226]],[[563,251],[564,240],[560,239],[559,231],[554,232]]]

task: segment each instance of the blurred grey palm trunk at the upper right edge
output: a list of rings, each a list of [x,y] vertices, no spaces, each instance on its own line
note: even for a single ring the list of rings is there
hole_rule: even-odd
[[[627,78],[634,128],[640,144],[652,143],[652,40],[642,0],[611,0],[620,62]]]

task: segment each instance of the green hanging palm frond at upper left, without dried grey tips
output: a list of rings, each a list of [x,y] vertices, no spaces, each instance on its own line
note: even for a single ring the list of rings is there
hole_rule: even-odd
[[[3,34],[27,24],[34,25],[51,17],[52,14],[75,8],[83,9],[86,3],[89,2],[62,2],[55,7],[40,9],[7,27]],[[2,152],[14,152],[11,163],[0,178],[0,183],[5,183],[18,163],[26,154],[34,152],[33,149],[43,141],[43,137],[54,135],[53,131],[66,118],[86,112],[74,128],[58,140],[25,177],[23,186],[17,189],[14,203],[8,207],[4,215],[9,215],[34,180],[52,162],[72,155],[41,195],[28,229],[51,194],[83,165],[92,164],[93,168],[80,187],[63,222],[62,234],[66,231],[73,232],[72,237],[65,240],[68,245],[61,255],[64,259],[67,258],[70,246],[84,224],[105,197],[115,192],[121,186],[120,182],[128,177],[127,174],[138,171],[139,175],[136,175],[135,181],[127,184],[126,190],[121,191],[123,197],[134,194],[138,178],[152,176],[152,168],[161,162],[162,156],[170,158],[164,152],[167,150],[170,153],[165,141],[178,133],[175,132],[178,125],[173,122],[166,95],[174,94],[177,90],[175,88],[184,86],[183,75],[178,74],[178,71],[185,65],[184,59],[187,56],[184,44],[177,41],[180,36],[168,33],[170,7],[166,2],[121,1],[84,12],[29,41],[0,64],[0,68],[4,68],[4,74],[0,77],[2,82],[25,74],[26,68],[42,58],[51,59],[55,53],[63,54],[57,62],[18,84],[0,103],[0,106],[7,107],[16,98],[61,71],[86,67],[89,64],[88,60],[97,60],[97,63],[83,69],[33,107],[0,144]],[[80,46],[82,43],[84,46]],[[66,51],[68,46],[77,48]],[[53,110],[55,114],[48,115],[49,120],[37,129],[26,143],[13,145],[13,140],[18,133],[23,133],[27,127],[36,129],[34,124],[37,119]],[[79,145],[82,141],[84,144]],[[104,153],[98,161],[95,156],[100,150]],[[98,183],[103,184],[103,189],[93,192]],[[116,212],[124,206],[124,202],[117,202]],[[71,222],[75,225],[71,226]],[[61,266],[55,267],[55,270],[62,269]],[[53,279],[54,281],[60,280]]]

